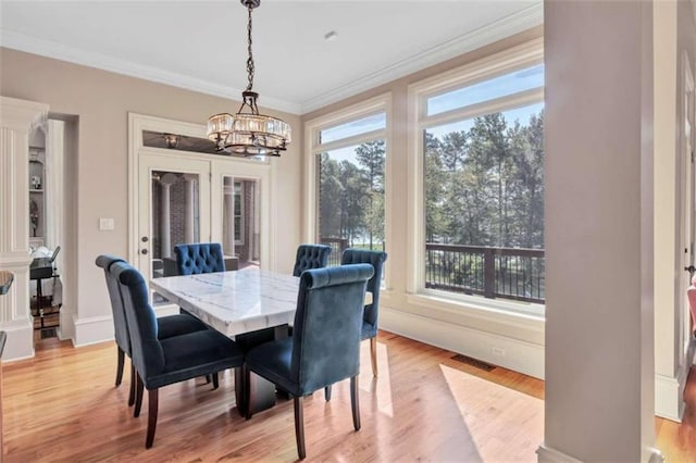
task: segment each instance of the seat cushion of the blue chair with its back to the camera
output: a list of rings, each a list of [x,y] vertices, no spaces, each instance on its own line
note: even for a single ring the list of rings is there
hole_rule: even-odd
[[[296,383],[291,383],[293,338],[278,339],[257,346],[247,352],[247,366],[293,396],[303,396]]]

